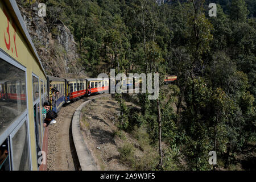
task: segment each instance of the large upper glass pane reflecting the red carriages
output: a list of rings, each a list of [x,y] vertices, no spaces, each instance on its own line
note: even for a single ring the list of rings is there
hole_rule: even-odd
[[[26,73],[0,59],[0,135],[27,109],[26,102]]]

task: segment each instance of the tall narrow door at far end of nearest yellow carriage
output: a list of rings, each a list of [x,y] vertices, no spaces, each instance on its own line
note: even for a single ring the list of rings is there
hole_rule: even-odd
[[[36,75],[32,75],[33,85],[33,98],[34,98],[34,126],[35,126],[35,139],[36,139],[36,154],[37,160],[40,157],[39,151],[42,148],[42,122],[40,114],[40,97],[39,97],[39,78]],[[40,164],[38,164],[38,167]]]

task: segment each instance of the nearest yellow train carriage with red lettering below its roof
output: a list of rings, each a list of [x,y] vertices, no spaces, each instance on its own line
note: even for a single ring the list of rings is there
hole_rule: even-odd
[[[0,1],[0,22],[0,171],[38,170],[46,73],[15,1]]]

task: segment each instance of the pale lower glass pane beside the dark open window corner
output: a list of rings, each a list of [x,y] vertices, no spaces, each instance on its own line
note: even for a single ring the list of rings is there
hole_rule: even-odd
[[[12,139],[13,145],[13,170],[28,171],[28,142],[27,142],[27,121],[23,123]]]

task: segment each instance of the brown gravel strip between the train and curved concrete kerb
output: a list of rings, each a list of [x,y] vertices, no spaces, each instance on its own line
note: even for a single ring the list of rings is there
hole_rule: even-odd
[[[103,95],[103,94],[102,94]],[[61,107],[56,123],[49,125],[48,135],[48,171],[79,171],[81,170],[72,137],[72,117],[83,102],[97,96],[84,97],[76,102]]]

